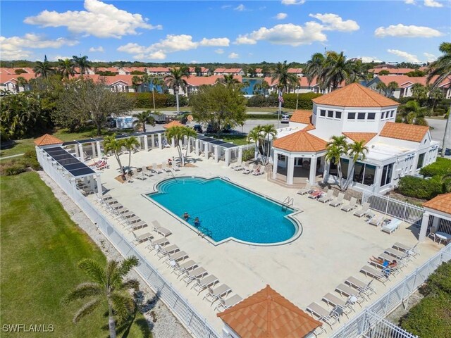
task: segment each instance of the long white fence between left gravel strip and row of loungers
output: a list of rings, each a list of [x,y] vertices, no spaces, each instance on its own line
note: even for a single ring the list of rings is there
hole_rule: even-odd
[[[174,315],[189,330],[193,337],[199,338],[220,338],[221,335],[207,323],[197,311],[188,303],[175,288],[166,281],[166,279],[158,273],[158,271],[147,261],[134,246],[130,245],[116,228],[94,208],[90,202],[75,187],[75,184],[63,176],[63,172],[58,170],[55,164],[52,164],[47,158],[42,156],[41,151],[37,151],[37,159],[44,171],[63,189],[68,196],[80,207],[80,209],[89,217],[92,222],[97,225],[104,236],[109,239],[111,244],[124,256],[136,256],[139,260],[138,266],[135,268],[142,279],[152,287],[155,294],[161,299],[166,306],[171,309]]]

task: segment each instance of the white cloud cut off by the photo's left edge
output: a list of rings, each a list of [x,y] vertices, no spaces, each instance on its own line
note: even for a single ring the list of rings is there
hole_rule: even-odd
[[[23,37],[0,37],[1,58],[3,60],[14,60],[20,58],[30,58],[32,49],[49,49],[61,48],[62,46],[75,46],[77,40],[65,39],[58,37],[57,39],[45,39],[42,35],[34,33],[25,34]]]

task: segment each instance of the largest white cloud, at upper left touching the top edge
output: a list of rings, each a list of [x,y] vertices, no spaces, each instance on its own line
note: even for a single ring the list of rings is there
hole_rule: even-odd
[[[137,29],[161,29],[151,25],[141,14],[132,14],[111,4],[98,0],[85,0],[86,11],[42,11],[36,16],[25,18],[24,23],[41,27],[67,27],[70,32],[93,35],[94,37],[115,37],[137,35]]]

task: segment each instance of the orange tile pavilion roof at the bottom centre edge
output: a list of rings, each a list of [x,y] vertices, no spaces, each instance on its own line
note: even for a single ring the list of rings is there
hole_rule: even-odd
[[[302,338],[322,325],[269,285],[217,316],[242,338]]]

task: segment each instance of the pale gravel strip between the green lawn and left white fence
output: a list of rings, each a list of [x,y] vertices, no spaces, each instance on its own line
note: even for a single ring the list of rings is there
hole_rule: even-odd
[[[87,215],[81,211],[80,208],[66,195],[63,190],[51,180],[51,178],[44,173],[39,171],[39,176],[41,180],[47,184],[51,190],[54,192],[56,199],[60,201],[63,208],[70,215],[70,218],[83,230],[92,241],[99,246],[101,251],[104,253],[107,259],[121,260],[123,256],[119,253],[116,248],[109,242],[104,234],[102,234],[97,227],[87,218]],[[175,318],[173,313],[166,307],[166,305],[160,300],[156,299],[155,293],[152,289],[142,280],[140,275],[135,273],[135,271],[130,272],[130,277],[135,278],[140,281],[140,289],[143,292],[144,301],[146,304],[143,309],[144,317],[149,323],[149,327],[152,330],[152,334],[155,338],[192,338],[191,334],[185,330],[185,327],[180,324],[180,322]]]

